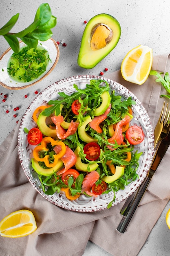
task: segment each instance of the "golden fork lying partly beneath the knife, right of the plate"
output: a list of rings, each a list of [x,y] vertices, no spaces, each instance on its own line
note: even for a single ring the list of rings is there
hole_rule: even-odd
[[[166,110],[165,113],[163,115],[164,112],[164,108],[165,108],[165,101],[163,103],[163,107],[161,110],[161,115],[159,117],[159,120],[157,122],[157,126],[155,127],[155,131],[154,131],[154,137],[155,137],[155,147],[157,146],[158,143],[160,143],[164,138],[166,138],[166,136],[168,136],[169,132],[170,132],[170,123],[168,122],[169,117],[170,117],[170,110],[168,112],[168,115],[166,117],[167,114],[167,110],[168,110],[168,103],[166,104]],[[166,119],[166,121],[165,121]],[[155,156],[153,157],[152,163],[154,162]],[[137,194],[140,190],[140,187],[126,200],[126,202],[124,203],[120,213],[123,216],[127,216],[133,202],[135,201],[135,198],[137,197]]]

